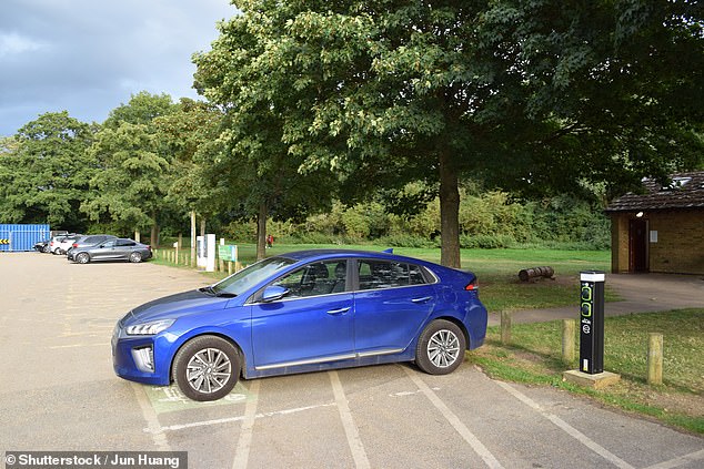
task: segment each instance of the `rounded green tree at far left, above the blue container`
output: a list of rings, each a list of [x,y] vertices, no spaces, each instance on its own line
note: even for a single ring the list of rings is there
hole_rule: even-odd
[[[97,171],[87,153],[94,132],[63,111],[42,114],[6,139],[0,153],[0,218],[83,230],[79,206]]]

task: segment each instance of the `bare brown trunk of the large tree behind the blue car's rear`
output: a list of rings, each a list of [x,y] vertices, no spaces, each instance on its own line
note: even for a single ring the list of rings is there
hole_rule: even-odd
[[[460,268],[460,190],[446,150],[440,154],[440,263]]]

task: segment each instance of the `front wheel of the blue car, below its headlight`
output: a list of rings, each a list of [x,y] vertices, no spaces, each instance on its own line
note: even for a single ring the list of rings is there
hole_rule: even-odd
[[[228,340],[215,336],[195,337],[177,353],[173,380],[193,400],[218,400],[240,378],[240,354]]]

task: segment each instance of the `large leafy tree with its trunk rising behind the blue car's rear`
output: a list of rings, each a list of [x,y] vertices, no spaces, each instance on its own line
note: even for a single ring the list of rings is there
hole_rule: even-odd
[[[463,174],[525,193],[624,186],[701,154],[697,2],[238,7],[199,63],[220,77],[207,95],[268,100],[289,154],[340,174],[343,192],[434,185],[445,265],[460,265]]]

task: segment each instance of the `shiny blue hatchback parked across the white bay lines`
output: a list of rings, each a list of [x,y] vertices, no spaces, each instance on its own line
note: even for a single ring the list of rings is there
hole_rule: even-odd
[[[112,336],[118,376],[194,400],[245,379],[393,361],[432,375],[481,346],[476,277],[391,253],[303,251],[139,306]]]

